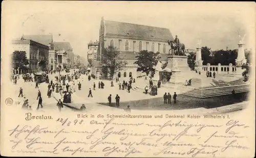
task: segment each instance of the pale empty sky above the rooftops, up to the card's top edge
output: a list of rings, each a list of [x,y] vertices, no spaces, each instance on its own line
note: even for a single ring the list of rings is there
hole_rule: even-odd
[[[239,34],[246,34],[245,48],[252,49],[252,13],[253,2],[5,1],[2,32],[10,42],[23,34],[52,33],[54,41],[70,42],[74,54],[87,57],[87,44],[99,39],[104,16],[106,20],[168,28],[188,49],[196,49],[199,39],[211,50],[237,49]]]

